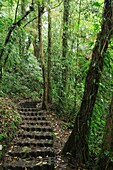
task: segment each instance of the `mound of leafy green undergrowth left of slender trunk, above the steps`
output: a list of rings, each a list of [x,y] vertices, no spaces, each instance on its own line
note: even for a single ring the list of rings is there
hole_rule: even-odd
[[[0,95],[8,95],[10,98],[32,98],[33,100],[38,100],[42,93],[40,89],[42,77],[41,68],[37,66],[36,59],[30,55],[25,60],[20,59],[17,63],[15,61],[11,64],[11,67],[7,66],[6,70],[4,70]]]

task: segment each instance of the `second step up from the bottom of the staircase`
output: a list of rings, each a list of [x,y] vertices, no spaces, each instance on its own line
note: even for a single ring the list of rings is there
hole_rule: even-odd
[[[7,152],[7,156],[20,157],[21,159],[28,157],[53,157],[54,151],[51,147],[28,147],[28,146],[12,146],[11,149]]]

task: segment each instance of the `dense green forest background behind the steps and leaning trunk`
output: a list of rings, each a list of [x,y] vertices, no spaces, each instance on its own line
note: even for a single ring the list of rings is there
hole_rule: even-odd
[[[66,0],[0,1],[0,54],[3,50],[0,57],[2,65],[0,96],[16,100],[44,99],[45,103],[53,104],[59,117],[69,128],[73,128],[83,101],[86,76],[104,20],[102,11],[106,1],[66,2]],[[33,10],[31,7],[29,9],[29,6]],[[27,17],[22,19],[29,10]],[[15,29],[5,43],[11,26],[15,24],[17,24]],[[103,44],[99,51],[104,63],[99,73],[101,76],[97,83],[98,93],[92,116],[86,120],[89,129],[87,135],[89,154],[94,161],[98,160],[100,155],[113,93],[112,36],[103,53],[105,46],[106,44]],[[96,60],[94,67],[95,63]],[[98,65],[95,70],[97,69]],[[48,94],[44,96],[46,92]],[[14,115],[12,111],[11,115]],[[9,118],[8,115],[5,116]],[[15,125],[13,121],[16,120],[16,117],[12,119],[10,123],[12,128]],[[8,121],[3,122],[4,127],[7,124]],[[6,132],[2,132],[0,140],[5,135]]]

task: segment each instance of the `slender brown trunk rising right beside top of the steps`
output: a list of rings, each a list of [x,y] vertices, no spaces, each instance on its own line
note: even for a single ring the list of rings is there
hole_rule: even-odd
[[[42,44],[42,14],[43,14],[43,5],[38,4],[38,35],[39,35],[39,50],[41,56],[41,66],[42,66],[42,76],[43,76],[43,100],[42,100],[42,109],[47,109],[47,77],[46,77],[46,66],[43,52]]]

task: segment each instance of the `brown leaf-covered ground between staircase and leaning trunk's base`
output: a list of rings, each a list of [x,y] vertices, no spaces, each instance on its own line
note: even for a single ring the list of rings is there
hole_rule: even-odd
[[[68,129],[65,122],[60,119],[54,112],[49,114],[54,131],[54,150],[55,150],[55,170],[76,170],[69,163],[68,158],[64,158],[61,154],[71,130]]]

